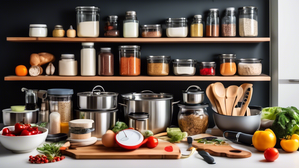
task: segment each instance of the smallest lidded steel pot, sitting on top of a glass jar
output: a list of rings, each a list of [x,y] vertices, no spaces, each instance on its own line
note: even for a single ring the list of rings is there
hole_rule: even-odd
[[[196,87],[197,89],[189,90],[191,87]],[[201,104],[204,101],[205,91],[198,86],[192,85],[187,90],[183,90],[183,100],[185,104]]]

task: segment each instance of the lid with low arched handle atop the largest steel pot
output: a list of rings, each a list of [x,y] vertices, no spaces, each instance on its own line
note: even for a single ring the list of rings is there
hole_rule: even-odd
[[[144,93],[146,91],[151,92],[151,93]],[[146,91],[122,94],[121,96],[126,100],[169,100],[169,99],[173,99],[173,94],[154,93],[149,90],[146,90]]]

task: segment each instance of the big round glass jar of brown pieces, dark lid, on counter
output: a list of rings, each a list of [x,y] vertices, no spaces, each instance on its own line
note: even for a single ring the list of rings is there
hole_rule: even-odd
[[[178,103],[180,111],[178,114],[179,128],[187,132],[188,136],[204,134],[209,126],[208,103],[189,105]]]

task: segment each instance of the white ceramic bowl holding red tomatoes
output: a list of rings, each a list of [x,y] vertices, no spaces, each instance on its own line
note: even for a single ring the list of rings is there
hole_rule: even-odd
[[[4,128],[8,128],[10,131],[15,129],[14,126],[7,126]],[[0,131],[1,144],[6,149],[11,150],[14,153],[26,153],[33,151],[35,148],[45,142],[48,135],[48,129],[42,127],[38,127],[38,130],[43,132],[42,134],[18,137],[4,136],[2,135],[2,130]]]

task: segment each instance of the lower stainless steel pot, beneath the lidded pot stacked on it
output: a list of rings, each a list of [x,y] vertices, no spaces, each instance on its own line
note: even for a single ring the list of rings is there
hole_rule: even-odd
[[[116,123],[117,111],[118,109],[104,111],[75,110],[76,119],[94,120],[94,123],[92,123],[94,131],[91,132],[91,136],[97,138],[102,138],[102,135],[104,135],[108,129],[113,129]]]

